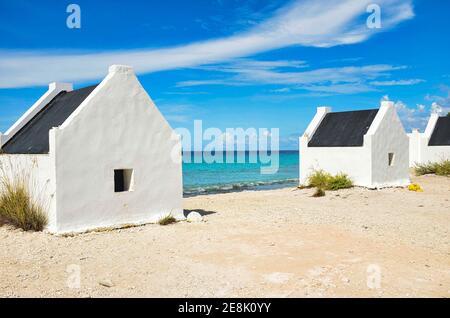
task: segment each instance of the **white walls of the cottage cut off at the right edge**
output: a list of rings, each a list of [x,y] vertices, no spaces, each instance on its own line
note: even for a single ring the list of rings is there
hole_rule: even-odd
[[[428,146],[439,115],[432,114],[423,133],[413,130],[409,137],[409,166],[450,159],[450,146]]]

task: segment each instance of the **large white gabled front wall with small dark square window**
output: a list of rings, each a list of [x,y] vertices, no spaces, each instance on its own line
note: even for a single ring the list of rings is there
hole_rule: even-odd
[[[50,133],[56,162],[54,232],[182,218],[181,143],[128,67],[108,76]],[[173,154],[175,154],[174,160]],[[134,190],[114,192],[114,169]]]

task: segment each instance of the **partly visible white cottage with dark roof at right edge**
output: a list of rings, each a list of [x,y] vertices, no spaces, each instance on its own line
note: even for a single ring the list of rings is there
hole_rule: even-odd
[[[409,165],[450,160],[450,117],[432,114],[424,133],[414,129],[409,136]]]

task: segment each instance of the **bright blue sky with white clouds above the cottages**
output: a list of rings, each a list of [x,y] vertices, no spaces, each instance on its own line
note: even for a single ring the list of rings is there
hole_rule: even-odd
[[[81,28],[66,7],[81,8]],[[316,107],[396,102],[407,130],[450,111],[449,1],[0,0],[0,130],[51,81],[132,65],[172,127],[279,128],[297,149]]]

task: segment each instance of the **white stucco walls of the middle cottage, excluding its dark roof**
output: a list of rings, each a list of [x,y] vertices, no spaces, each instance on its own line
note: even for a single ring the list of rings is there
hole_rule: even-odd
[[[409,183],[409,141],[400,120],[390,103],[383,103],[362,147],[308,147],[308,142],[320,125],[324,111],[318,112],[300,138],[300,184],[307,183],[314,170],[332,174],[346,173],[357,186],[381,188],[403,186]],[[320,118],[320,120],[316,120]],[[395,163],[389,166],[388,153],[395,154]]]

